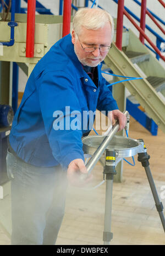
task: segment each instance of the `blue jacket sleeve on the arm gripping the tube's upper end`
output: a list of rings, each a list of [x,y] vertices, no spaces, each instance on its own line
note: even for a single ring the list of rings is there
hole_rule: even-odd
[[[108,111],[118,110],[117,102],[114,100],[111,91],[106,85],[106,79],[103,77],[101,79],[100,93],[98,95],[97,110],[106,111],[106,116]]]

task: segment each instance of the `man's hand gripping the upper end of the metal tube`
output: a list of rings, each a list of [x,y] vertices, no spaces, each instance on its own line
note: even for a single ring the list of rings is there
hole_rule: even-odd
[[[119,130],[123,130],[127,122],[127,117],[119,110],[112,110],[108,112],[108,117],[112,122],[112,126],[116,123],[116,119],[119,121]],[[119,132],[118,130],[118,132]]]

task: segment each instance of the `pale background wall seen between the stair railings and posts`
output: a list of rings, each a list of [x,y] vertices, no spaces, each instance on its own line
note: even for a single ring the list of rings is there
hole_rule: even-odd
[[[74,0],[74,3],[77,3],[78,7],[83,7],[84,2],[85,0]],[[139,0],[139,2],[141,1]],[[51,12],[55,15],[59,14],[59,0],[40,0],[40,3],[43,4],[43,6],[45,6],[46,8],[51,9]],[[98,0],[98,4],[100,4],[102,8],[106,9],[112,15],[112,17],[117,18],[117,4],[113,2],[113,0]],[[124,4],[140,18],[140,6],[138,4],[136,4],[133,0],[125,0]],[[92,3],[89,1],[89,7],[91,5]],[[21,7],[27,7],[27,4],[23,0],[21,0]],[[164,8],[157,0],[147,0],[147,8],[152,10],[153,13],[157,14],[158,17],[164,20]],[[160,36],[164,37],[162,31],[157,28],[155,23],[153,23],[153,21],[148,16],[146,16],[146,24],[151,26],[151,28],[155,30]],[[124,17],[124,26],[132,29],[135,34],[139,36],[139,31],[134,28],[134,26],[130,23],[127,17]],[[161,26],[163,25],[161,24]],[[156,37],[147,30],[146,34],[150,37],[152,42],[156,44]],[[163,62],[161,61],[161,63]],[[24,91],[26,81],[26,76],[20,70],[19,91]]]

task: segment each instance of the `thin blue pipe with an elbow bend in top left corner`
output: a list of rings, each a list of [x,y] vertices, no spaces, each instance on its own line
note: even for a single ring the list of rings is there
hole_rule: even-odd
[[[10,26],[10,41],[9,42],[0,42],[4,46],[13,46],[14,45],[14,27],[18,24],[15,22],[15,0],[12,0],[12,9],[11,9],[11,21],[8,22]]]

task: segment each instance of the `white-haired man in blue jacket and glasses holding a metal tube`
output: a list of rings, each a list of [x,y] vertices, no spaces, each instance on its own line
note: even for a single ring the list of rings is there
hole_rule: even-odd
[[[80,9],[72,36],[56,42],[27,81],[7,154],[12,244],[54,244],[64,215],[67,180],[84,184],[76,174],[87,172],[81,138],[90,128],[73,128],[70,113],[112,111],[113,122],[119,119],[120,129],[125,126],[126,118],[101,75],[112,36],[113,20],[105,10]]]

